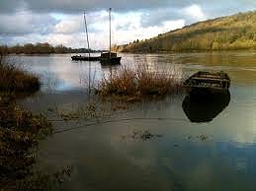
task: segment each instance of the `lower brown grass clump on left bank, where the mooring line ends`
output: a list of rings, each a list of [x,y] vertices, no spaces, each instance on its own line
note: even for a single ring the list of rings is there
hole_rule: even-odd
[[[12,186],[30,173],[35,162],[31,149],[52,131],[43,115],[18,106],[11,96],[0,96],[0,187]]]

